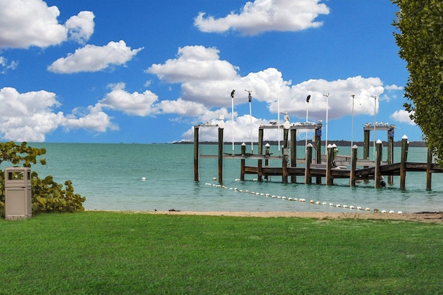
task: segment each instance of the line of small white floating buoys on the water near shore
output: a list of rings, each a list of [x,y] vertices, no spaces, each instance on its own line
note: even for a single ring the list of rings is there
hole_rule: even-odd
[[[235,180],[235,181],[239,181],[239,180]],[[371,211],[371,209],[369,207],[365,207],[363,209],[363,207],[354,207],[352,205],[346,205],[346,204],[334,204],[334,203],[327,203],[327,202],[320,202],[320,201],[314,201],[314,200],[309,200],[307,201],[305,198],[287,198],[286,196],[275,196],[275,195],[271,195],[269,193],[257,193],[255,191],[249,191],[248,189],[237,189],[236,187],[226,187],[224,185],[221,184],[212,184],[209,182],[206,182],[205,185],[208,185],[210,187],[215,187],[215,188],[220,188],[220,189],[230,189],[232,191],[235,192],[239,192],[239,193],[250,193],[251,195],[255,195],[255,196],[262,196],[265,198],[275,198],[275,199],[280,199],[280,200],[287,200],[287,201],[292,201],[292,202],[303,202],[306,204],[314,204],[314,205],[323,205],[323,206],[328,206],[328,207],[335,207],[335,208],[340,208],[340,209],[349,209],[349,210],[356,210],[356,211]],[[386,211],[386,210],[379,210],[377,208],[373,209],[372,212],[374,213],[395,213],[395,211],[390,210],[390,211]],[[403,213],[402,211],[397,211],[398,214]]]

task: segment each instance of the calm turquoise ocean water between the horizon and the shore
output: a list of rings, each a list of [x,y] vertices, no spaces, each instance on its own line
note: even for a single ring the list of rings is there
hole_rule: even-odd
[[[300,183],[295,184],[282,183],[281,177],[277,176],[257,182],[253,180],[256,175],[246,175],[246,180],[240,182],[236,181],[240,177],[240,161],[225,159],[223,185],[226,188],[223,188],[217,187],[218,182],[213,180],[218,173],[217,159],[201,158],[200,182],[194,181],[192,144],[29,145],[46,149],[47,165],[35,165],[33,170],[40,177],[53,175],[57,182],[72,180],[75,193],[87,198],[84,207],[90,210],[356,211],[335,207],[336,204],[346,204],[363,210],[368,207],[405,213],[443,211],[443,174],[440,173],[433,174],[431,191],[426,191],[426,173],[419,172],[407,173],[406,190],[399,189],[399,177],[394,177],[394,184],[378,189],[374,188],[372,181],[356,187],[349,187],[349,180],[334,180],[333,186],[306,185],[301,183],[301,177],[298,179]],[[235,149],[236,153],[240,152],[240,146]],[[304,154],[304,149],[304,146],[298,146],[299,157]],[[338,149],[340,155],[350,155],[349,147],[338,146]],[[226,144],[224,150],[231,153],[232,146]],[[271,153],[276,155],[278,152],[277,146],[271,146]],[[201,145],[200,153],[217,155],[217,145]],[[363,148],[358,153],[361,158]],[[385,159],[386,148],[383,154]],[[395,162],[398,162],[400,148],[395,148],[394,155]],[[426,148],[410,147],[408,161],[426,162]],[[256,160],[246,161],[249,165],[256,163]],[[278,160],[271,160],[270,164],[281,166]],[[266,193],[275,198],[266,197]],[[283,200],[283,196],[305,198],[306,202]],[[332,203],[334,207],[309,204],[310,200]]]

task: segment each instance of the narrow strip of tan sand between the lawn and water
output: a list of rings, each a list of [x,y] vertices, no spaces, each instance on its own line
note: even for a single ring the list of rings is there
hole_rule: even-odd
[[[424,213],[327,213],[327,212],[246,212],[246,211],[123,211],[127,213],[199,215],[199,216],[239,216],[239,217],[298,217],[316,218],[319,220],[333,219],[364,219],[364,220],[406,220],[414,222],[431,222],[443,224],[443,212]]]

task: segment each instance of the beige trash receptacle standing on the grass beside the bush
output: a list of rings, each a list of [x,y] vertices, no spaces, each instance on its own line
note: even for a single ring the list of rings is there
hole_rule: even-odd
[[[5,168],[5,218],[28,218],[32,213],[30,168]]]

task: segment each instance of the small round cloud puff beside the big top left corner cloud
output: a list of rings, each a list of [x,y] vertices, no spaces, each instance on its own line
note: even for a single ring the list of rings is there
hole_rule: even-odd
[[[69,39],[84,44],[94,32],[94,14],[91,11],[82,11],[66,21]]]

